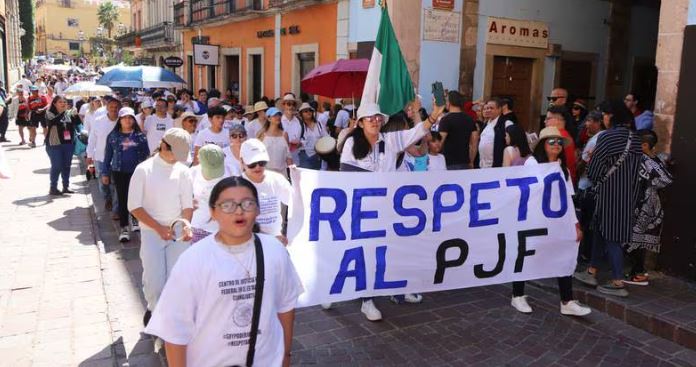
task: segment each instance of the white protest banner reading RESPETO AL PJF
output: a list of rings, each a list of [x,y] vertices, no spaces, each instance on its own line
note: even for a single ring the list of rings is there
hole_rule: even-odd
[[[567,276],[575,209],[558,164],[443,172],[293,169],[299,306]]]

